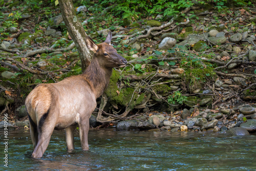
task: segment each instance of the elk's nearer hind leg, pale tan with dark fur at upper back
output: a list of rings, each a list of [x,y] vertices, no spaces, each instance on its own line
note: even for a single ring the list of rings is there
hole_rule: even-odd
[[[49,145],[51,135],[53,133],[55,124],[56,124],[56,118],[57,117],[51,117],[54,116],[51,112],[47,112],[39,120],[38,123],[38,142],[34,149],[34,152],[32,153],[33,158],[40,158],[45,153],[46,148]],[[57,115],[58,116],[58,115]]]

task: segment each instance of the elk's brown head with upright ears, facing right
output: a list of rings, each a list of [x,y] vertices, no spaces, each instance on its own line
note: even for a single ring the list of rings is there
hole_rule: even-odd
[[[122,68],[126,65],[127,60],[124,59],[117,51],[111,46],[112,33],[109,32],[106,40],[99,45],[96,45],[91,37],[86,37],[86,44],[88,49],[94,52],[100,65],[105,68]]]

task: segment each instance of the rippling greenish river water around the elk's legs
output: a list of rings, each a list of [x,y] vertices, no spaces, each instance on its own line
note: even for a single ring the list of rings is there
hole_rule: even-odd
[[[41,159],[31,158],[29,131],[8,138],[8,168],[1,143],[0,170],[256,170],[256,135],[90,130],[90,151],[81,151],[76,133],[76,150],[67,153],[65,133],[54,131]]]

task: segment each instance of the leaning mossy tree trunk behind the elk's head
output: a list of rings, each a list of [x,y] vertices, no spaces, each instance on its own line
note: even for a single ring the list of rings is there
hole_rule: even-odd
[[[68,32],[75,42],[76,48],[82,62],[82,71],[90,64],[92,54],[86,46],[86,31],[78,21],[72,0],[59,0],[61,15],[68,29]]]

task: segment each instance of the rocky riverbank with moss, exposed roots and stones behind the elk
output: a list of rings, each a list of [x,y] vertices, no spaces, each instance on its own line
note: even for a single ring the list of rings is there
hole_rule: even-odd
[[[130,22],[114,18],[115,24],[92,17],[93,8],[78,11],[83,27],[97,42],[112,31],[113,45],[129,62],[124,70],[113,71],[108,89],[97,100],[92,127],[233,130],[230,135],[255,131],[254,7],[219,12],[195,4],[185,15]],[[10,4],[2,8],[0,109],[8,112],[10,127],[23,129],[29,127],[24,99],[37,84],[82,71],[59,10],[38,17],[24,7],[17,25],[10,25],[18,10]]]

